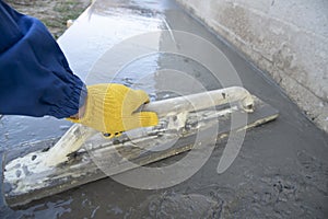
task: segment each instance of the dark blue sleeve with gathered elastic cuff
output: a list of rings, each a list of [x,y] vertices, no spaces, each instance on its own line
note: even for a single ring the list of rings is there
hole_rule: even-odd
[[[0,114],[69,117],[85,96],[45,25],[0,0]]]

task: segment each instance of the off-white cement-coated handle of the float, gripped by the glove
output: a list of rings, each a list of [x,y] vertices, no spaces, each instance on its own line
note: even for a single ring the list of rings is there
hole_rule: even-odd
[[[188,113],[204,108],[213,110],[216,106],[227,104],[235,105],[239,110],[250,113],[254,110],[254,97],[242,87],[231,87],[151,102],[142,105],[139,111],[154,112],[160,119],[176,117],[175,123],[169,123],[166,129],[177,129],[185,126]],[[44,158],[44,164],[52,166],[67,161],[67,154],[79,150],[82,143],[96,132],[92,128],[79,124],[73,125],[50,149],[48,152],[49,157]]]

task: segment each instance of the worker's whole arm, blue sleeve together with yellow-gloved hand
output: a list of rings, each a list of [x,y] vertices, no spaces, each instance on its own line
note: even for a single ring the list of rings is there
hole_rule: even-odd
[[[121,84],[86,88],[42,22],[1,0],[0,32],[0,114],[70,117],[110,137],[159,123],[155,113],[136,113],[149,102],[143,91]]]

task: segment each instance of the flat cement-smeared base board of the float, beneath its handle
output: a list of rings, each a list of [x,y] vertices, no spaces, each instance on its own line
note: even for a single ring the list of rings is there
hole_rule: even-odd
[[[106,177],[99,166],[106,166],[106,173],[119,174],[137,165],[147,165],[155,161],[190,150],[199,130],[206,131],[220,124],[218,139],[226,138],[231,131],[248,129],[278,117],[278,111],[256,99],[255,112],[248,113],[247,125],[231,127],[232,115],[246,114],[237,107],[219,111],[189,113],[186,125],[180,129],[169,128],[169,119],[161,120],[156,128],[142,129],[133,138],[124,135],[113,140],[104,140],[101,134],[94,135],[84,147],[69,155],[69,161],[56,166],[39,163],[54,146],[50,139],[22,147],[7,153],[4,164],[4,197],[9,206],[21,206],[63,191]],[[218,120],[219,119],[219,120]],[[231,130],[233,129],[233,130]],[[178,139],[165,150],[152,150],[169,140]],[[136,147],[138,141],[138,147]],[[202,139],[207,143],[207,139]],[[220,145],[220,143],[219,143]],[[26,149],[28,148],[28,151]],[[97,164],[93,159],[97,159]],[[129,161],[129,162],[128,162]],[[131,165],[131,163],[133,165]],[[101,163],[101,164],[99,164]]]

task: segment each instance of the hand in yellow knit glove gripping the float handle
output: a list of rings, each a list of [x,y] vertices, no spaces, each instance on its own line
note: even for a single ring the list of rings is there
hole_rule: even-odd
[[[144,103],[149,103],[149,96],[141,90],[117,83],[89,85],[83,117],[68,120],[92,127],[113,138],[125,130],[159,124],[157,115],[153,112],[136,113]]]

